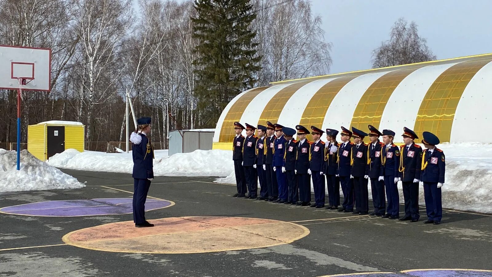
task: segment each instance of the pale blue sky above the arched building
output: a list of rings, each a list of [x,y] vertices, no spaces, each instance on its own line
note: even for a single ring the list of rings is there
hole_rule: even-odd
[[[323,20],[325,40],[333,43],[330,73],[369,69],[372,50],[388,39],[400,17],[417,23],[438,59],[492,52],[492,0],[311,0],[311,4]]]

